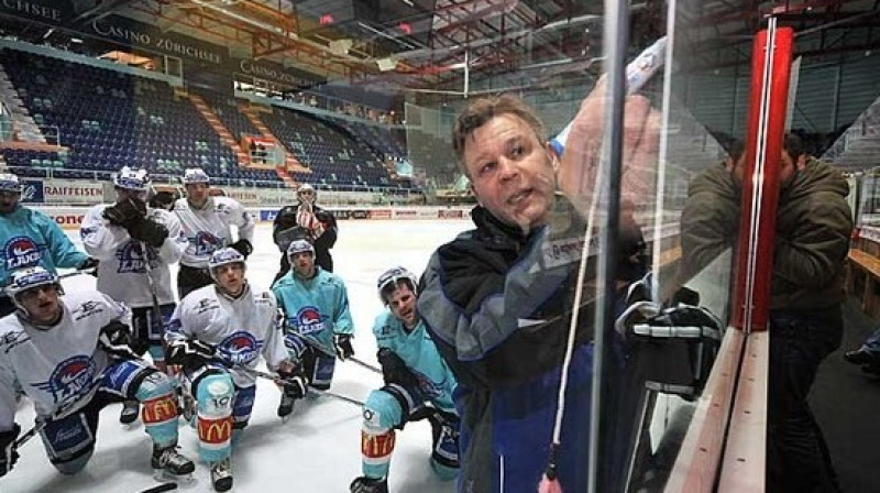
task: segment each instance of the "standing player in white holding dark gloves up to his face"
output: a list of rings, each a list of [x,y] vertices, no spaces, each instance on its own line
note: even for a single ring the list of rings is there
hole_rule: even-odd
[[[148,350],[165,372],[162,332],[175,308],[168,265],[180,260],[187,240],[177,216],[144,204],[150,187],[145,169],[124,166],[113,185],[116,204],[97,205],[86,213],[79,230],[82,245],[101,262],[98,291],[132,309],[132,349],[139,355]],[[138,402],[127,401],[119,420],[136,418]]]

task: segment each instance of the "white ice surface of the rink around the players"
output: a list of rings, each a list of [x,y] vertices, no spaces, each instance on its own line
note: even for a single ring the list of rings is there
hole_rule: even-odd
[[[471,227],[468,220],[444,221],[341,221],[339,241],[332,250],[336,273],[345,281],[355,322],[355,355],[375,363],[376,346],[372,324],[383,309],[375,289],[378,275],[393,265],[420,274],[433,249]],[[248,261],[248,278],[268,287],[278,269],[279,252],[272,242],[271,226],[260,224],[254,253]],[[67,234],[81,245],[78,231]],[[175,269],[176,271],[176,269]],[[176,275],[176,272],[173,272]],[[90,276],[64,280],[65,289],[94,287]],[[337,364],[332,391],[363,401],[382,377],[351,362]],[[232,453],[234,486],[242,493],[346,492],[361,475],[360,406],[331,397],[297,402],[287,423],[276,416],[279,392],[266,380],[257,381],[256,403],[250,426]],[[131,427],[119,423],[120,404],[101,412],[97,448],[84,471],[64,476],[46,458],[38,438],[25,443],[15,468],[0,479],[0,492],[141,492],[156,486],[150,467],[151,442],[140,420]],[[33,407],[25,398],[16,421],[25,430],[33,425]],[[195,429],[180,420],[182,452],[197,461]],[[405,492],[451,492],[453,483],[435,478],[430,464],[431,434],[427,423],[406,425],[397,434],[392,458],[389,489]],[[178,491],[211,492],[208,467],[197,461],[194,481]]]

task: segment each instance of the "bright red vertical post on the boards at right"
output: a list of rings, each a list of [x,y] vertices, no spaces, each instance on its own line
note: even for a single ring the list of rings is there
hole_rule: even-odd
[[[758,33],[751,58],[746,168],[733,310],[734,327],[746,331],[766,330],[769,316],[779,162],[788,113],[794,33],[791,28],[778,29],[773,46],[768,46],[769,37],[767,30]],[[766,70],[768,57],[772,62],[770,70]],[[763,135],[759,132],[761,127],[765,129]],[[762,169],[758,167],[761,161]]]

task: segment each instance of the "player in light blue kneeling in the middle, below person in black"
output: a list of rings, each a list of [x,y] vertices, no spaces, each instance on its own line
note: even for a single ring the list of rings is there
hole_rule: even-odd
[[[333,380],[336,359],[354,355],[345,283],[315,265],[315,246],[307,240],[290,243],[287,256],[290,271],[272,286],[284,311],[284,342],[292,359],[302,363],[310,385],[326,391]],[[283,395],[278,416],[290,414],[293,406],[294,401]]]

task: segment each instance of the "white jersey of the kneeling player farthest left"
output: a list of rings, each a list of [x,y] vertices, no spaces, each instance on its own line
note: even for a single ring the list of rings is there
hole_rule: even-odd
[[[98,349],[100,329],[112,320],[131,326],[131,310],[97,291],[70,293],[61,303],[64,315],[48,329],[16,314],[0,319],[0,431],[14,423],[15,381],[41,417],[65,406],[65,415],[85,406],[109,361]]]

